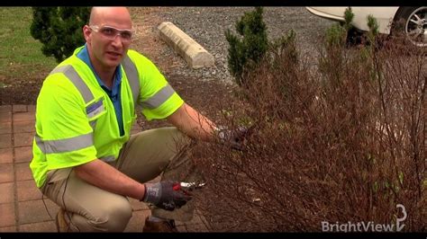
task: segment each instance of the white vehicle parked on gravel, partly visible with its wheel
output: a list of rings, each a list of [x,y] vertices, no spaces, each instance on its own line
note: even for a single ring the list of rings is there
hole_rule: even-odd
[[[343,7],[306,7],[306,9],[317,16],[333,21],[344,22]],[[427,6],[394,6],[394,7],[351,7],[354,13],[352,25],[361,30],[368,31],[368,15],[377,19],[378,31],[390,34],[392,31],[400,30],[392,23],[403,23],[404,34],[418,47],[427,47]]]

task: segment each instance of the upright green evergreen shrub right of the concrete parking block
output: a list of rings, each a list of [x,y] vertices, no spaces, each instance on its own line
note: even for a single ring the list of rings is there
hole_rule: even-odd
[[[238,37],[232,31],[225,31],[228,49],[228,66],[237,84],[244,84],[242,77],[245,70],[253,69],[268,49],[267,26],[262,19],[263,8],[256,7],[255,11],[244,13],[241,20],[236,22]]]

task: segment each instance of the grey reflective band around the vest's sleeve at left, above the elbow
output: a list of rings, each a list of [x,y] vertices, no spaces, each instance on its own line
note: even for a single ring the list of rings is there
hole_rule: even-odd
[[[41,140],[41,137],[36,134],[35,141],[37,146],[41,149],[41,152],[45,155],[66,153],[94,145],[92,133],[77,137],[45,141]]]

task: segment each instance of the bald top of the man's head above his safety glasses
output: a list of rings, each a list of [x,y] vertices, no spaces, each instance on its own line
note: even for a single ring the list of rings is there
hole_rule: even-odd
[[[131,14],[126,7],[93,7],[89,18],[90,25],[111,25],[119,28],[132,28]]]

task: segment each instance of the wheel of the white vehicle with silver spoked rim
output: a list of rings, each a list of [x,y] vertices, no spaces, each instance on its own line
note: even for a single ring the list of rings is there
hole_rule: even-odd
[[[427,47],[427,6],[399,8],[393,32],[404,33],[417,47]]]

